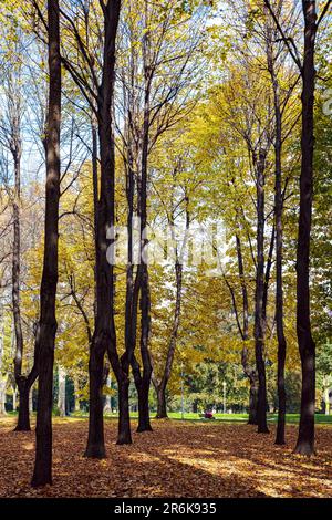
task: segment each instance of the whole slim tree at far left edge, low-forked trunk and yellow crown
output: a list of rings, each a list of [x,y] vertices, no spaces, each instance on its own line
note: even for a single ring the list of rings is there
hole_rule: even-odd
[[[13,169],[13,179],[10,174],[2,175],[2,183],[9,195],[12,207],[12,266],[11,266],[11,287],[12,287],[12,312],[15,336],[15,354],[14,354],[14,382],[19,389],[19,416],[15,430],[30,430],[29,418],[29,392],[31,385],[37,378],[37,366],[34,365],[31,373],[23,373],[23,354],[24,337],[21,316],[21,160],[22,160],[22,127],[25,123],[24,102],[23,102],[23,60],[22,49],[25,41],[23,31],[24,23],[22,21],[22,12],[18,6],[6,6],[7,19],[6,30],[6,49],[3,49],[7,60],[3,63],[3,93],[4,93],[4,111],[1,114],[1,137],[0,142],[4,149],[11,155],[10,169]],[[8,177],[8,178],[7,178]]]

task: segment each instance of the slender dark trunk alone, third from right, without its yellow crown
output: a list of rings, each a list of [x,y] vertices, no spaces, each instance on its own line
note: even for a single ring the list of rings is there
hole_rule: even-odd
[[[257,422],[258,433],[269,433],[267,424],[267,382],[264,364],[264,320],[263,320],[263,294],[264,294],[264,168],[266,150],[259,152],[256,160],[257,174],[257,272],[255,293],[255,354],[258,372],[258,406]]]

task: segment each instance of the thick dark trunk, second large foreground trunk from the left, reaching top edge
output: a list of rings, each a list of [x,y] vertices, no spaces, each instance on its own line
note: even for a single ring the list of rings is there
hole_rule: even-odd
[[[94,458],[104,458],[106,455],[102,393],[106,351],[108,351],[114,373],[118,376],[121,372],[114,323],[114,266],[112,259],[108,263],[106,257],[111,239],[114,241],[114,237],[110,236],[110,230],[113,230],[115,223],[115,158],[111,110],[114,94],[115,39],[120,9],[120,0],[108,0],[107,3],[103,3],[103,70],[97,94],[101,183],[96,215],[96,313],[89,361],[90,414],[85,449],[85,456]]]

